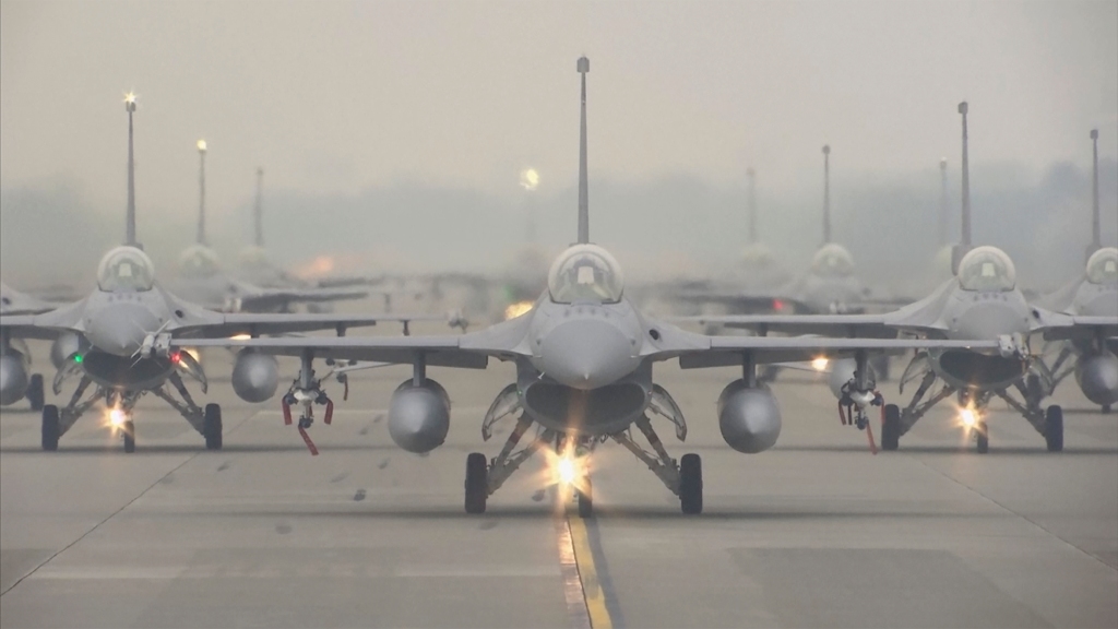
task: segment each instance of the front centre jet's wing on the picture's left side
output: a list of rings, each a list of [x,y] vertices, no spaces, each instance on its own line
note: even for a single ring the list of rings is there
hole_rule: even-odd
[[[250,347],[267,354],[389,364],[413,364],[417,356],[438,367],[483,369],[489,358],[511,359],[528,356],[525,331],[528,317],[518,317],[477,332],[445,336],[375,337],[281,337],[171,339],[171,347]]]

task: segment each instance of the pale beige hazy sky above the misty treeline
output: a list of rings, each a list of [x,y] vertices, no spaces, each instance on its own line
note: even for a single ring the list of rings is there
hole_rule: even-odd
[[[1118,2],[0,2],[0,187],[124,198],[122,93],[140,95],[139,199],[209,206],[266,185],[515,194],[577,171],[575,60],[591,59],[593,177],[770,190],[972,159],[1118,151]],[[593,203],[593,191],[591,191]],[[115,209],[114,209],[115,210]]]

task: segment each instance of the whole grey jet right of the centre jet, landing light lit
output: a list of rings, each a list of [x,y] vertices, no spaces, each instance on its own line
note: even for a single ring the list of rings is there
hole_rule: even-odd
[[[844,337],[893,338],[911,334],[926,339],[982,340],[1007,336],[1043,335],[1048,340],[1073,339],[1083,348],[1080,359],[1080,385],[1090,400],[1112,398],[1118,394],[1118,358],[1107,348],[1107,339],[1118,336],[1118,316],[1062,314],[1027,303],[1016,285],[1016,271],[1010,256],[996,247],[973,247],[970,240],[970,193],[967,166],[967,103],[963,115],[963,242],[953,255],[955,278],[930,295],[894,312],[858,316],[796,317],[711,317],[695,318],[731,328],[767,334],[823,334]],[[831,376],[832,391],[845,401],[844,388],[854,367],[840,364]],[[937,403],[955,395],[959,417],[977,442],[978,452],[989,449],[986,406],[993,397],[1004,400],[1044,436],[1050,451],[1063,449],[1063,410],[1059,405],[1042,409],[1040,397],[1023,384],[1033,374],[1046,378],[1043,362],[1029,353],[988,356],[930,347],[917,351],[901,377],[904,385],[918,382],[917,391],[903,409],[888,404],[883,409],[881,441],[885,450],[897,450],[900,438]],[[936,384],[938,388],[923,401]],[[1016,388],[1023,400],[1011,396]]]

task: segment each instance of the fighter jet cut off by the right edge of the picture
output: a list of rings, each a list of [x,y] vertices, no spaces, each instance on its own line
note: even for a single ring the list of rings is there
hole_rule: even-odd
[[[1103,247],[1099,213],[1099,132],[1091,130],[1093,168],[1091,172],[1091,243],[1087,246],[1087,266],[1082,275],[1055,292],[1036,300],[1036,304],[1068,314],[1118,316],[1118,248]],[[1091,402],[1109,413],[1118,403],[1118,363],[1093,350],[1089,342],[1061,342],[1060,353],[1050,367],[1051,384],[1045,386],[1038,375],[1026,381],[1030,393],[1051,395],[1071,374],[1079,388]],[[1111,355],[1118,353],[1118,341],[1108,344]],[[1068,359],[1076,356],[1074,363]],[[1084,382],[1095,378],[1098,382]]]

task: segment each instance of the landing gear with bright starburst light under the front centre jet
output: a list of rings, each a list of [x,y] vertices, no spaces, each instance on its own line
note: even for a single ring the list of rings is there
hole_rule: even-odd
[[[609,435],[567,434],[547,428],[539,428],[531,442],[517,449],[521,439],[532,426],[532,420],[519,404],[510,403],[510,396],[498,396],[486,421],[482,434],[491,435],[490,428],[502,416],[520,411],[509,438],[501,452],[493,459],[486,459],[481,452],[472,452],[466,457],[465,508],[467,514],[485,513],[485,504],[502,485],[536,452],[544,450],[552,460],[556,484],[560,491],[568,490],[578,506],[579,517],[594,515],[594,484],[587,461],[594,449],[606,439],[612,439],[625,447],[637,459],[643,461],[665,487],[680,498],[680,509],[684,514],[702,513],[702,460],[699,454],[684,454],[680,461],[672,459],[664,449],[660,436],[652,428],[646,414],[642,414],[634,424],[647,440],[652,451],[637,444],[632,429]],[[656,387],[653,404],[650,410],[654,414],[667,417],[675,425],[676,436],[682,441],[686,436],[686,423],[679,407],[671,401],[666,392]],[[499,414],[496,414],[500,411]]]

